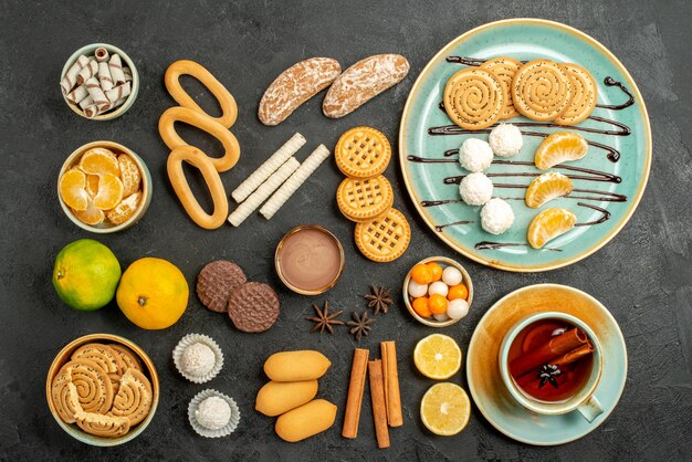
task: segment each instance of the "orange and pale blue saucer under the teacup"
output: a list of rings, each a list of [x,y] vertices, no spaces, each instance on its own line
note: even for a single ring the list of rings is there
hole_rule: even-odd
[[[604,368],[594,396],[604,413],[593,422],[579,411],[560,416],[532,412],[512,398],[502,381],[499,366],[502,339],[516,323],[543,312],[575,316],[598,338]],[[473,402],[493,427],[527,444],[555,445],[590,433],[614,411],[627,380],[627,348],[618,323],[596,298],[566,285],[537,284],[512,292],[485,313],[471,337],[465,367]]]

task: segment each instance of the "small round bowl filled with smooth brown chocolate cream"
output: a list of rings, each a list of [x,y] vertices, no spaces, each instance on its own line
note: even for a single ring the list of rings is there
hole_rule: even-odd
[[[301,225],[289,231],[274,255],[281,281],[303,295],[318,295],[334,287],[344,271],[344,262],[342,243],[318,225]]]

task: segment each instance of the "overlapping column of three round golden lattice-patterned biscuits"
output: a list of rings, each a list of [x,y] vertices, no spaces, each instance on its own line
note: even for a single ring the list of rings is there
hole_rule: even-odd
[[[392,208],[394,190],[381,175],[391,159],[389,140],[375,128],[355,127],[340,136],[334,157],[347,177],[336,190],[336,201],[344,217],[357,223],[358,250],[375,262],[398,259],[409,245],[411,228]]]

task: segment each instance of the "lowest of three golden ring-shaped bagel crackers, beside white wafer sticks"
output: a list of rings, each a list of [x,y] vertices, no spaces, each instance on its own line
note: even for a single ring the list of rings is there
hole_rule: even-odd
[[[170,153],[167,161],[168,178],[176,191],[176,196],[182,203],[182,208],[192,221],[207,230],[219,228],[228,216],[228,198],[226,197],[221,177],[219,177],[219,172],[213,166],[213,160],[196,147],[180,146]],[[213,201],[213,214],[207,213],[192,195],[190,185],[182,171],[182,161],[197,167],[202,174]]]

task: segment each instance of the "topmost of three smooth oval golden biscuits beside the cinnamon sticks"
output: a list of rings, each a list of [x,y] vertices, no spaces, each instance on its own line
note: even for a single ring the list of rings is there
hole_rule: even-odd
[[[274,353],[264,363],[264,374],[274,381],[318,379],[332,366],[319,351],[305,349]]]

